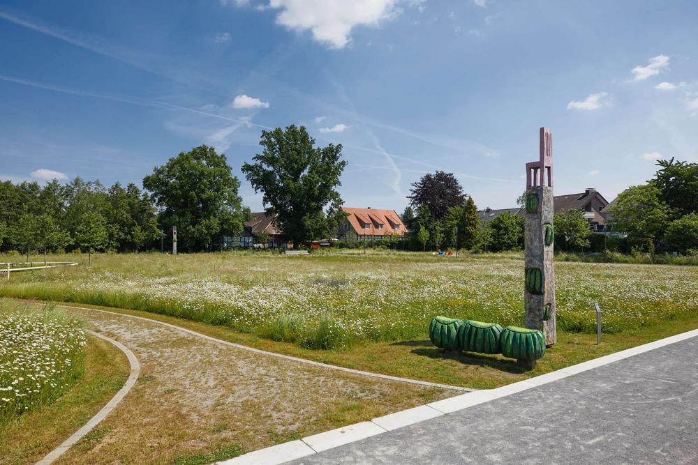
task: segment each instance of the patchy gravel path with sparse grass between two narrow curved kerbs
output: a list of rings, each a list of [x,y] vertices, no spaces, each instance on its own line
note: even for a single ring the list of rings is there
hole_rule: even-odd
[[[263,356],[127,316],[70,310],[131,349],[138,383],[57,463],[171,463],[245,452],[450,397],[453,391]]]

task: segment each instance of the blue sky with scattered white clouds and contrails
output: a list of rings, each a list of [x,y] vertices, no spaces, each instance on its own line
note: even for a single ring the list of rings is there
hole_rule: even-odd
[[[240,165],[295,123],[344,145],[348,206],[443,169],[504,208],[546,125],[556,193],[610,201],[698,161],[697,30],[695,1],[2,0],[0,178],[140,185],[209,144],[259,210]]]

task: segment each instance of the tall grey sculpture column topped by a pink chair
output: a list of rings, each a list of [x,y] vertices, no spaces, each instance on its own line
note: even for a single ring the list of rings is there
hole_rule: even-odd
[[[541,330],[548,347],[557,341],[553,264],[553,137],[540,128],[540,160],[526,163],[526,328]]]

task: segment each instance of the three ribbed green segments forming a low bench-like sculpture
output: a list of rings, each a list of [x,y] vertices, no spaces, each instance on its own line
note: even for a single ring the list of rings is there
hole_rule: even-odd
[[[429,339],[440,349],[501,353],[505,357],[527,361],[535,360],[545,353],[545,337],[540,330],[507,326],[498,323],[434,317],[429,323]]]

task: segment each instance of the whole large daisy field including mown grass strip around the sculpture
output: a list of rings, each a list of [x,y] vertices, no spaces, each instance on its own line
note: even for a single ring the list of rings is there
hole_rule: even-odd
[[[427,333],[437,314],[522,326],[521,253],[105,254],[91,267],[17,273],[0,294],[142,310],[273,351],[473,388],[698,326],[696,267],[558,261],[556,272],[559,343],[528,374],[502,357],[443,354]]]

